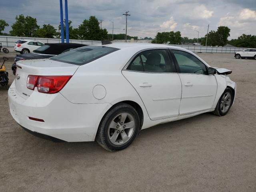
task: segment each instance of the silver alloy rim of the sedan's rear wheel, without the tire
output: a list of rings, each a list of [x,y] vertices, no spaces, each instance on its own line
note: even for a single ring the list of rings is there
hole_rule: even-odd
[[[108,139],[114,145],[125,144],[132,138],[134,130],[133,116],[126,112],[118,114],[108,126]]]

